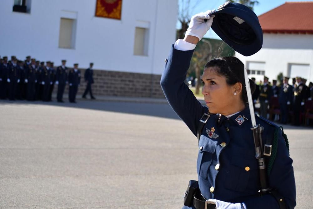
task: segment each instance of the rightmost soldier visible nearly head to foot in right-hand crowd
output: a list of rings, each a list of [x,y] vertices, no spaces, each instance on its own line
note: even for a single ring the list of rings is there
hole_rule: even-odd
[[[305,104],[305,85],[302,83],[301,77],[296,77],[297,80],[297,87],[295,87],[294,90],[294,99],[293,99],[293,110],[294,110],[294,116],[295,116],[295,126],[299,126],[301,124],[300,121],[300,113],[303,110],[304,104]]]

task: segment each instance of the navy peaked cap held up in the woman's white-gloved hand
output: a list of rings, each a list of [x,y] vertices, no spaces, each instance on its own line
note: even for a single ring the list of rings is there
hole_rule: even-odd
[[[226,2],[210,15],[215,15],[211,28],[233,50],[250,56],[262,48],[258,16],[247,6]]]

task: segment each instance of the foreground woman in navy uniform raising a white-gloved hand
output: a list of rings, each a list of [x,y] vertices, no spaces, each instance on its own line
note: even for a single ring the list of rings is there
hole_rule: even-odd
[[[185,38],[178,39],[172,45],[161,78],[167,101],[193,134],[197,136],[199,120],[204,113],[211,115],[198,142],[198,189],[192,205],[183,208],[280,208],[275,196],[260,196],[259,193],[259,169],[250,129],[244,64],[235,57],[222,57],[205,65],[202,94],[206,106],[198,102],[184,83],[193,50],[213,23],[214,17],[209,16],[210,12],[192,17]],[[251,80],[250,87],[254,91],[255,84]],[[274,137],[278,128],[275,124],[260,117],[256,118],[256,122],[264,127],[263,142]],[[285,203],[286,208],[294,208],[296,202],[292,159],[281,131],[275,154],[268,175],[269,186],[282,197],[280,201]],[[207,203],[210,204],[206,205]]]

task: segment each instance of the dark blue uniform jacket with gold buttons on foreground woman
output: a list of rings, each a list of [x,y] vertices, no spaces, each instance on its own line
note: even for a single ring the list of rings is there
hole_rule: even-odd
[[[208,112],[208,107],[202,106],[184,83],[192,54],[193,50],[171,49],[162,74],[161,86],[173,110],[196,135],[199,119],[203,113]],[[267,137],[273,137],[275,127],[259,117],[256,117],[256,122],[264,127],[262,138],[265,143]],[[221,116],[219,120],[219,115],[209,118],[199,141],[197,173],[200,191],[206,199],[244,202],[247,209],[279,208],[273,196],[259,196],[259,171],[250,128],[249,107],[230,118]],[[210,136],[210,131],[215,135]],[[285,198],[288,208],[294,208],[296,202],[292,159],[281,133],[279,136],[269,185]]]

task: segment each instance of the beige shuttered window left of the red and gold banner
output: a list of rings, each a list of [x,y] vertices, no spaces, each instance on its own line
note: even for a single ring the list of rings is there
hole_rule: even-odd
[[[61,18],[59,33],[59,48],[74,49],[76,37],[76,20]]]

